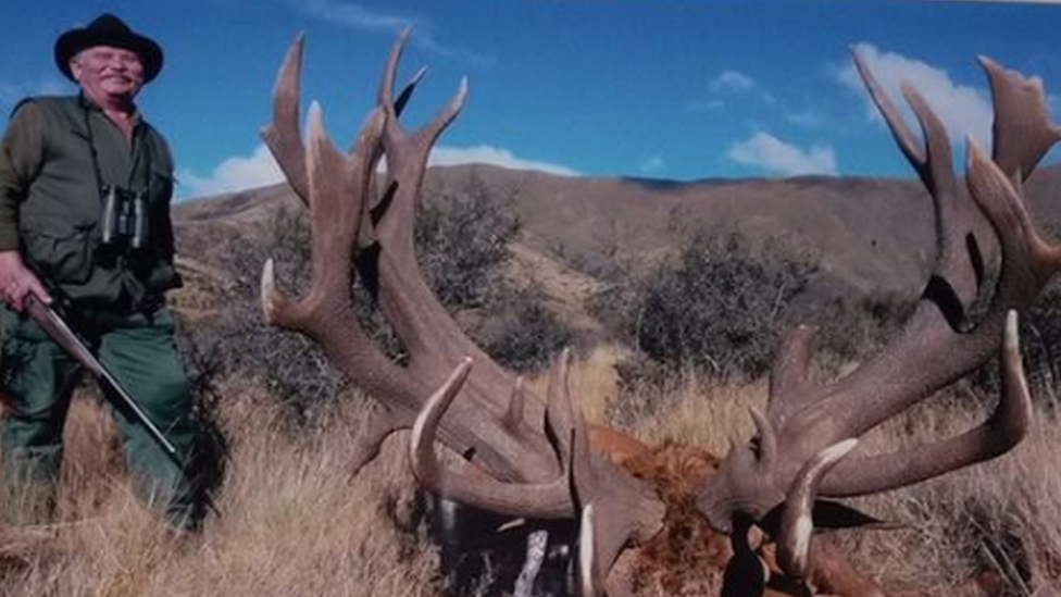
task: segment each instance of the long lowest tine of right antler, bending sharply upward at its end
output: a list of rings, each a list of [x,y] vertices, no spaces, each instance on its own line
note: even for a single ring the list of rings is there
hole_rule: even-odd
[[[990,460],[1020,444],[1032,421],[1032,398],[1021,363],[1015,311],[1007,315],[1001,344],[1002,395],[987,421],[934,444],[845,461],[825,478],[820,493],[853,497],[904,487]]]

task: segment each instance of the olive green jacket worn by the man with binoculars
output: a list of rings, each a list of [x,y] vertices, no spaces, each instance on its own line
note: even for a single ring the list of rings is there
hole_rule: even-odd
[[[101,184],[146,191],[146,248],[101,245]],[[0,250],[21,250],[85,307],[135,311],[179,286],[172,196],[173,158],[162,135],[140,120],[130,146],[84,96],[24,102],[0,140]]]

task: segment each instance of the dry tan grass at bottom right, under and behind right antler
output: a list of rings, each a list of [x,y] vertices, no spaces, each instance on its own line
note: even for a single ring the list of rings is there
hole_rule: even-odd
[[[921,406],[885,425],[864,449],[912,447],[971,428],[987,413],[969,398]],[[1007,581],[1009,595],[1061,595],[1059,448],[1056,408],[1041,407],[1028,438],[1009,455],[865,499],[866,509],[907,527],[846,537],[860,568],[894,585],[919,587],[952,585],[989,571]]]

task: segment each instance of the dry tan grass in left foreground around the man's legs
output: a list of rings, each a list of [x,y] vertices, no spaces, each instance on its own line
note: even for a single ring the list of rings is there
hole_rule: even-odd
[[[267,399],[225,411],[233,439],[221,518],[174,537],[132,497],[108,418],[77,405],[68,426],[60,522],[9,554],[5,596],[429,596],[436,557],[384,514],[407,486],[395,441],[352,481],[344,474],[357,409],[292,437]],[[25,542],[23,542],[25,544]]]

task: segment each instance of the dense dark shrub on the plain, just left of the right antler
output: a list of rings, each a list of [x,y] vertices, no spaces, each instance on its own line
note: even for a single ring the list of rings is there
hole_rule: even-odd
[[[779,240],[754,246],[736,234],[698,231],[672,262],[634,284],[625,335],[651,359],[715,375],[766,372],[792,299],[817,265]]]

